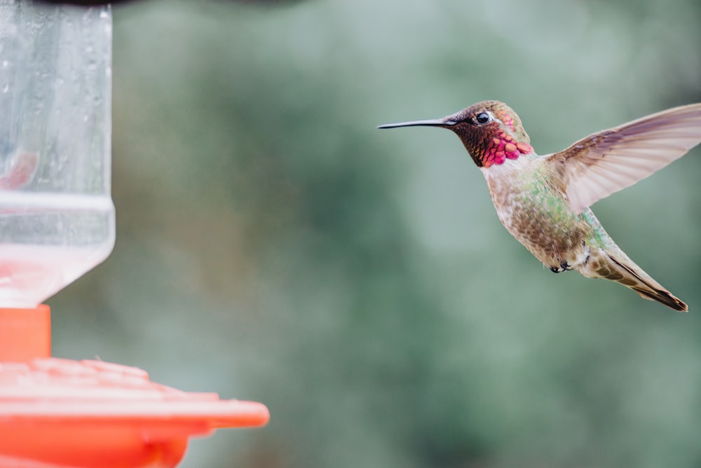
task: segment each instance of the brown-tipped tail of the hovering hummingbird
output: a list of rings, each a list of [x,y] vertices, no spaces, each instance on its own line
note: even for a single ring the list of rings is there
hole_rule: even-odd
[[[594,258],[596,257],[596,258]],[[679,298],[676,298],[672,293],[667,291],[662,285],[652,279],[650,275],[645,273],[642,268],[637,266],[626,254],[618,250],[618,252],[606,252],[601,250],[599,255],[592,254],[592,259],[587,265],[590,273],[595,275],[586,275],[590,277],[603,277],[606,280],[619,282],[625,287],[634,290],[641,297],[658,301],[667,307],[680,312],[688,312],[688,307]]]

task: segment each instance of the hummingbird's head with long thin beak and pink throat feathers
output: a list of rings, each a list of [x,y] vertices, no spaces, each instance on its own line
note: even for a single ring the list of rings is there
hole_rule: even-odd
[[[533,152],[531,139],[521,125],[521,119],[503,102],[482,101],[444,118],[390,123],[379,128],[414,125],[452,130],[460,137],[478,167],[503,164],[507,159]]]

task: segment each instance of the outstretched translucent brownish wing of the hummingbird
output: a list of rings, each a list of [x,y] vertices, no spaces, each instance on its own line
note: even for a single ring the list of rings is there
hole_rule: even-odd
[[[559,166],[570,207],[581,213],[597,200],[681,158],[699,142],[701,103],[594,133],[548,156],[548,161]]]

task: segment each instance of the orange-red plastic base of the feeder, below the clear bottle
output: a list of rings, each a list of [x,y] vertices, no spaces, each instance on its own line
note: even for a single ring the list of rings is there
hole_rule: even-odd
[[[0,468],[175,467],[189,437],[269,417],[134,367],[52,358],[48,306],[0,309]]]

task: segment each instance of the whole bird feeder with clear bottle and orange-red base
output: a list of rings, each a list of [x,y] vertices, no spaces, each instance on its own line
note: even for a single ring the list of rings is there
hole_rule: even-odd
[[[267,408],[50,357],[42,302],[114,246],[109,7],[0,0],[0,468],[173,467]]]

